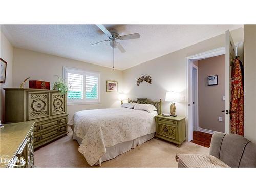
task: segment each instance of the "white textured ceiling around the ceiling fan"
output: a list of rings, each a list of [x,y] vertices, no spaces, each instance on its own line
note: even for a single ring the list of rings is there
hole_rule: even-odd
[[[4,25],[12,45],[96,65],[112,67],[113,50],[96,25]],[[126,52],[115,49],[115,68],[127,69],[193,45],[242,25],[104,25],[119,35],[140,33],[139,39],[120,41]]]

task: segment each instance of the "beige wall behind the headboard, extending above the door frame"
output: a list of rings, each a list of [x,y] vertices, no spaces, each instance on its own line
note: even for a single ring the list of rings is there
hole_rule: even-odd
[[[231,31],[235,42],[243,40],[243,29]],[[225,34],[199,42],[193,46],[169,53],[123,71],[124,92],[132,98],[162,99],[167,91],[186,94],[186,57],[225,46]],[[137,86],[137,78],[150,75],[152,84]],[[163,102],[163,113],[169,112],[170,102]],[[176,103],[176,114],[186,116],[186,103]]]

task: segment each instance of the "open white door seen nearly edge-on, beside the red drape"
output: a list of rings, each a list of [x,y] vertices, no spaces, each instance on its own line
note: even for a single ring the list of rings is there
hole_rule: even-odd
[[[226,31],[226,56],[225,56],[225,132],[230,133],[230,81],[231,81],[231,59],[236,56],[234,45],[229,30]]]

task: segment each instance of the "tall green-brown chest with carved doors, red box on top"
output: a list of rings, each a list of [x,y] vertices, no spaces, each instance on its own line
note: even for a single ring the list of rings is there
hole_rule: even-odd
[[[67,132],[67,96],[55,90],[4,88],[5,121],[7,123],[36,121],[34,148]]]

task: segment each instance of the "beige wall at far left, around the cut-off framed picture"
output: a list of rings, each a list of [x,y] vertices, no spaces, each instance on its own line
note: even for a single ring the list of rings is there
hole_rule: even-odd
[[[2,26],[0,26],[2,28]],[[1,29],[2,30],[2,29]],[[5,83],[0,83],[0,119],[4,122],[5,115],[5,91],[3,88],[12,87],[12,61],[13,47],[0,30],[0,57],[7,62]]]

